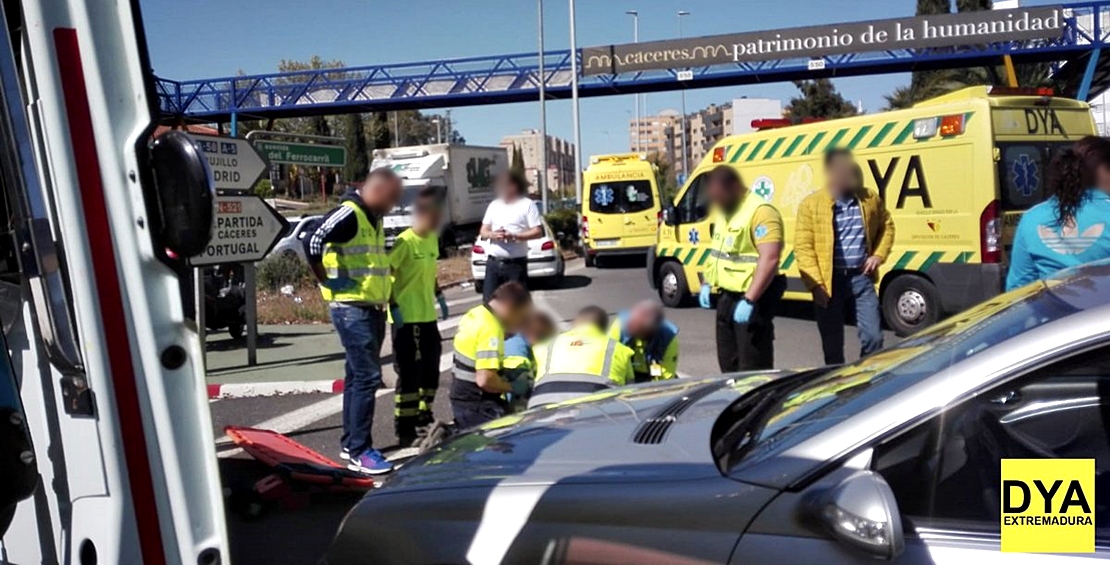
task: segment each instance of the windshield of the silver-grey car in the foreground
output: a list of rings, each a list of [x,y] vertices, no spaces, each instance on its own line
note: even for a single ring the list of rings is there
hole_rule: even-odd
[[[1049,281],[1051,292],[1045,292],[1042,283],[1019,289],[856,363],[770,390],[758,407],[737,421],[746,428],[743,433],[735,433],[733,425],[730,445],[720,446],[723,467],[757,464],[929,375],[1082,310],[1086,304],[1073,303],[1067,292],[1068,284],[1082,281]]]

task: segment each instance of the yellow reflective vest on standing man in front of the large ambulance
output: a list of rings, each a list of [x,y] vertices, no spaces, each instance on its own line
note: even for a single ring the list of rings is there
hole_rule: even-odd
[[[751,239],[751,219],[759,206],[769,206],[758,194],[748,192],[731,218],[719,211],[713,222],[713,248],[705,279],[726,291],[747,292],[759,262],[759,250]]]

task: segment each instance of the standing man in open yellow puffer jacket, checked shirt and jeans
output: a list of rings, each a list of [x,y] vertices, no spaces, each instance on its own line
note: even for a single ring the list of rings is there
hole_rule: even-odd
[[[890,254],[895,224],[879,198],[864,186],[859,165],[846,149],[825,154],[827,190],[806,196],[798,206],[794,254],[814,294],[817,329],[825,362],[844,363],[844,323],[856,310],[860,356],[882,349],[879,266]]]

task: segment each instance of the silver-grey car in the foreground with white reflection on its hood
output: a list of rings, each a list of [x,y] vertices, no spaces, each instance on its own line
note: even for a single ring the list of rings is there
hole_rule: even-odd
[[[999,553],[1000,461],[1110,468],[1110,264],[998,296],[857,363],[639,385],[404,465],[340,563],[1078,563]],[[1035,503],[1036,504],[1036,503]]]

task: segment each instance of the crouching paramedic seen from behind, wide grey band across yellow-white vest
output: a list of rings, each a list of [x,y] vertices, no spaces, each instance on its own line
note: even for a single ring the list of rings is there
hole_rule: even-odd
[[[529,408],[632,384],[632,350],[605,334],[608,322],[604,310],[586,306],[572,329],[535,349]]]

